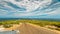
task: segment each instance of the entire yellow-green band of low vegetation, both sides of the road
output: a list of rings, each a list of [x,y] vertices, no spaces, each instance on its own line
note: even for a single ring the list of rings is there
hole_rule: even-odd
[[[5,28],[12,27],[13,24],[19,24],[19,23],[32,23],[36,24],[42,27],[47,27],[50,29],[55,29],[60,31],[60,21],[51,21],[51,20],[29,20],[29,19],[23,19],[23,20],[4,20],[0,21],[0,25],[3,25]]]

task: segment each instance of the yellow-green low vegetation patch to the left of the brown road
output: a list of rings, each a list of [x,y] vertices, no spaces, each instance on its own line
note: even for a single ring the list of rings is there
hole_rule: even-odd
[[[12,27],[14,24],[19,24],[19,20],[3,20],[0,21],[0,25],[3,25],[4,28]]]

